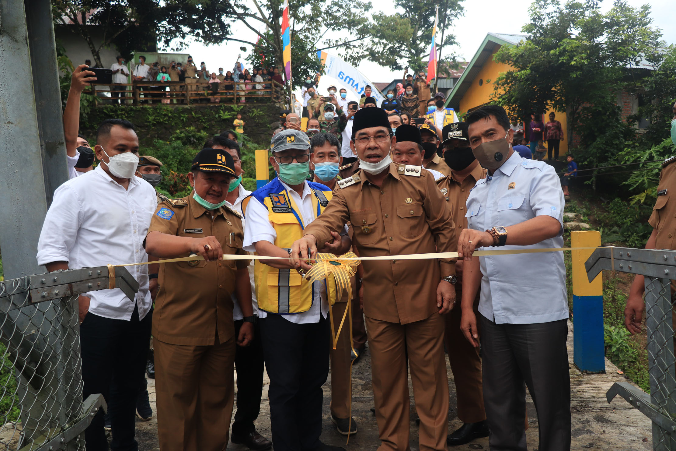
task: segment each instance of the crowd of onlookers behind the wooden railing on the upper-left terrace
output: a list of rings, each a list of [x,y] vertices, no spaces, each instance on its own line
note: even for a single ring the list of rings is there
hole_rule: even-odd
[[[91,66],[91,62],[85,62]],[[279,67],[245,68],[239,61],[232,70],[211,72],[205,62],[199,66],[188,55],[187,62],[171,61],[167,66],[160,62],[146,63],[145,56],[139,56],[137,64],[126,64],[125,58],[118,55],[117,62],[112,70],[110,93],[113,103],[125,103],[129,91],[139,83],[141,103],[177,103],[185,100],[185,95],[191,97],[193,103],[219,103],[239,101],[240,103],[268,101],[272,91],[281,91],[285,83],[283,71]],[[130,78],[129,78],[130,77]],[[148,85],[147,82],[158,82],[158,85]],[[168,82],[183,82],[171,84]],[[143,83],[141,85],[141,83]]]

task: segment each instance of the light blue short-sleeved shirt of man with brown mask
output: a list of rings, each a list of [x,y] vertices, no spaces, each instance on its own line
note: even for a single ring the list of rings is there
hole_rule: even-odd
[[[563,247],[563,191],[552,166],[512,153],[493,176],[477,181],[467,198],[467,227],[485,231],[546,214],[561,224],[559,234],[531,246]],[[495,247],[481,250],[496,249]],[[568,318],[563,252],[479,257],[479,312],[496,324],[548,323]]]

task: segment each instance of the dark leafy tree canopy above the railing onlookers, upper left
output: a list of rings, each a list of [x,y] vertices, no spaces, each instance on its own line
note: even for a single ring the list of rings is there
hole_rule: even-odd
[[[114,46],[129,57],[158,42],[168,47],[173,41],[178,50],[189,36],[214,44],[231,33],[232,5],[222,0],[52,0],[52,8],[54,23],[72,27],[98,67],[103,48]]]

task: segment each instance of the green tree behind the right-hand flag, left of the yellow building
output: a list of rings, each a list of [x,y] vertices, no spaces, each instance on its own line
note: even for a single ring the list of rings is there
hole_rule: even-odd
[[[413,71],[427,69],[423,58],[429,57],[429,45],[432,40],[435,8],[439,6],[438,35],[442,41],[437,46],[456,43],[454,34],[445,33],[453,21],[464,14],[462,0],[395,0],[394,14],[375,14],[370,27],[370,38],[354,51],[353,60],[368,57],[381,66],[391,70],[411,68]],[[452,55],[442,61],[453,60]]]

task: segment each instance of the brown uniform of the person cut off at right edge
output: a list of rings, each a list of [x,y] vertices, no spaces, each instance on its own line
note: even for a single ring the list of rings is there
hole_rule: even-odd
[[[660,184],[657,187],[657,200],[652,208],[652,215],[648,224],[657,231],[655,249],[676,249],[676,227],[673,218],[676,218],[676,197],[669,201],[669,197],[676,196],[676,158],[670,158],[662,163]],[[671,281],[671,293],[676,292],[676,283]],[[676,309],[672,310],[671,318],[676,333]],[[676,340],[674,340],[676,352]]]

